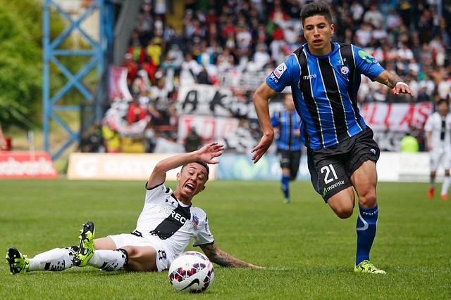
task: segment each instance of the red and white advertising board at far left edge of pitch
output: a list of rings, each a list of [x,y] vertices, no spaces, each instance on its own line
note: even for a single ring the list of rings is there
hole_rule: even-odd
[[[0,152],[0,178],[58,178],[47,152]]]

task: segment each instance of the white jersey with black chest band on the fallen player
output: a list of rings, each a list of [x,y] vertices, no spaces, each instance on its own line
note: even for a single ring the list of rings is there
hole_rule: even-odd
[[[191,237],[194,246],[214,242],[205,211],[186,207],[164,183],[147,190],[136,231],[173,254],[183,252]]]

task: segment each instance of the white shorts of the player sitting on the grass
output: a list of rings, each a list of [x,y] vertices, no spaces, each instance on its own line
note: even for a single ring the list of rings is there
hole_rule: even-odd
[[[116,244],[116,249],[125,246],[154,248],[156,251],[156,268],[158,268],[159,272],[168,269],[176,256],[168,249],[165,249],[161,240],[154,238],[152,235],[138,236],[132,233],[122,233],[120,235],[108,235],[108,237]]]

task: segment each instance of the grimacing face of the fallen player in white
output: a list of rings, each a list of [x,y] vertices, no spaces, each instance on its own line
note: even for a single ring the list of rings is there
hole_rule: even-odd
[[[206,169],[202,164],[191,162],[177,174],[180,197],[192,198],[204,190],[206,182]]]

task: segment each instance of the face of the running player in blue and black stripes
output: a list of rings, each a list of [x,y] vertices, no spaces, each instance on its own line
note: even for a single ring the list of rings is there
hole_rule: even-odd
[[[332,50],[330,36],[333,34],[334,25],[323,15],[314,15],[304,20],[304,37],[309,44],[309,51],[316,56],[325,56]]]

